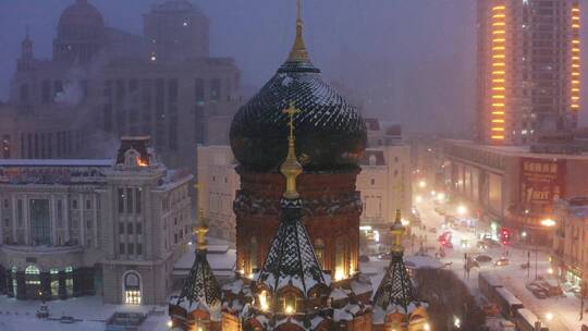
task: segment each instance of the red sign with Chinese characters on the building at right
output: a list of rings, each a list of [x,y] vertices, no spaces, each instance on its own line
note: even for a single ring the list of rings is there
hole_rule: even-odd
[[[520,197],[523,204],[546,205],[564,194],[565,160],[520,160]]]

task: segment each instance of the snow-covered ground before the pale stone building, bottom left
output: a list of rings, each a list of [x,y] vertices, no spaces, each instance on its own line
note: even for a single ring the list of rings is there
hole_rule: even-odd
[[[66,301],[47,302],[50,318],[59,319],[61,316],[71,316],[74,319],[82,320],[72,324],[61,323],[58,320],[37,319],[35,312],[39,309],[39,301],[17,301],[7,296],[0,296],[0,330],[103,331],[106,320],[114,311],[148,314],[151,310],[157,312],[149,314],[140,330],[168,330],[167,306],[107,305],[102,303],[102,298],[99,296],[84,296]]]

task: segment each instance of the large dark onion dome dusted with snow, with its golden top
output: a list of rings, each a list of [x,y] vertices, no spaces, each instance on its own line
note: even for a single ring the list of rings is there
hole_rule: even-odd
[[[275,171],[287,154],[291,102],[301,110],[294,117],[296,152],[306,171],[357,168],[366,148],[367,131],[355,107],[322,82],[302,40],[297,38],[289,60],[275,75],[244,105],[231,124],[231,148],[242,167],[254,171]]]

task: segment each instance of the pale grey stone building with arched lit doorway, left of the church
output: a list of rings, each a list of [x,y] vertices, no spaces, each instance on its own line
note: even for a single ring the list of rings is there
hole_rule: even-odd
[[[102,295],[161,304],[191,234],[192,175],[148,137],[114,159],[0,160],[0,292],[19,299]]]

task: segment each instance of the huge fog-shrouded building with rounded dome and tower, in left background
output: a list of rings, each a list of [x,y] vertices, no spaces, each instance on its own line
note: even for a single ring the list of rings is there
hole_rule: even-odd
[[[59,19],[51,59],[23,40],[0,107],[0,122],[16,124],[0,127],[7,156],[96,157],[122,135],[150,135],[166,164],[194,169],[198,143],[228,143],[241,99],[234,60],[208,48],[209,20],[187,0],[154,4],[142,36],[106,26],[89,1],[76,0]]]

